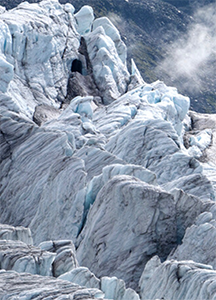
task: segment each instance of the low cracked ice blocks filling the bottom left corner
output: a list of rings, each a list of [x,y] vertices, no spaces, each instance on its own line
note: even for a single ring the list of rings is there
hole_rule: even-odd
[[[0,241],[1,299],[140,300],[134,290],[126,288],[123,280],[98,279],[88,268],[80,267],[71,240],[44,241],[35,247],[28,244],[32,242],[27,239],[31,236],[28,228],[0,225],[1,236],[9,237]],[[17,235],[9,234],[12,232]]]

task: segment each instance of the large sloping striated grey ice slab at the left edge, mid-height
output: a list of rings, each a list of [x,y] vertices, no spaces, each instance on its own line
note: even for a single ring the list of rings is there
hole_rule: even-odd
[[[16,124],[18,122],[11,122],[10,119],[6,119],[4,127],[2,126],[2,130],[4,130],[4,136],[6,137],[6,145],[9,149],[6,148],[6,153],[10,156],[10,152],[13,152],[12,160],[8,157],[8,163],[4,165],[4,168],[1,170],[1,176],[4,176],[5,179],[2,181],[2,208],[5,206],[5,201],[7,199],[11,199],[10,191],[13,190],[14,201],[9,200],[7,206],[11,208],[14,207],[14,214],[9,211],[4,210],[2,212],[2,220],[11,223],[20,223],[21,219],[24,219],[23,225],[29,226],[30,223],[33,225],[35,230],[38,232],[40,229],[45,226],[48,218],[53,219],[53,211],[51,209],[59,206],[59,209],[56,211],[56,216],[59,216],[59,213],[62,211],[73,210],[72,202],[74,199],[74,205],[76,209],[73,210],[72,214],[68,215],[68,220],[65,222],[70,222],[74,224],[72,227],[74,228],[74,236],[77,235],[77,230],[79,225],[76,225],[75,220],[77,220],[79,224],[79,211],[80,211],[80,219],[82,217],[82,204],[75,201],[75,194],[73,191],[82,189],[85,186],[85,169],[84,163],[78,157],[71,157],[73,154],[73,149],[71,143],[65,133],[60,131],[46,131],[34,127],[31,128],[20,123],[17,127]],[[3,121],[3,120],[2,120]],[[10,126],[8,124],[10,123]],[[25,128],[25,129],[24,129]],[[24,131],[23,131],[24,129]],[[13,130],[13,131],[11,131]],[[10,138],[14,138],[14,132],[17,132],[17,139],[22,140],[22,136],[20,136],[20,132],[25,136],[25,141],[17,147],[14,145],[15,150],[13,151],[13,144],[10,146]],[[34,131],[35,130],[35,131]],[[38,131],[39,130],[39,131]],[[25,135],[25,133],[27,134]],[[28,134],[30,136],[28,136]],[[14,140],[16,141],[16,139]],[[37,141],[37,142],[36,142]],[[34,148],[34,144],[38,143],[37,148]],[[9,143],[9,144],[8,144]],[[27,166],[28,164],[28,166]],[[23,165],[21,167],[21,165]],[[63,167],[64,165],[64,167]],[[8,168],[10,170],[8,170]],[[18,170],[18,172],[13,172],[13,170]],[[71,180],[70,177],[66,176],[68,181],[66,182],[63,173],[76,174],[76,178],[79,179],[79,182],[75,182]],[[27,177],[23,176],[26,174]],[[9,182],[7,182],[7,179]],[[61,184],[62,188],[61,188]],[[7,185],[8,188],[5,188]],[[63,188],[64,187],[64,188]],[[45,199],[52,199],[52,202],[44,201]],[[15,201],[16,199],[16,201]],[[58,199],[58,200],[57,200]],[[67,201],[69,199],[69,201]],[[25,211],[23,213],[18,214],[17,212],[22,210],[22,203],[25,201]],[[53,203],[53,204],[52,204]],[[66,208],[68,207],[68,208]],[[40,216],[40,211],[44,211],[45,216]],[[74,215],[74,218],[72,218]],[[42,218],[41,218],[42,217]],[[59,221],[60,218],[58,217]],[[61,226],[58,225],[59,222],[56,222],[56,230],[59,231],[58,238],[61,237],[63,231],[61,232]],[[47,227],[48,229],[48,227]],[[62,227],[63,229],[63,227]],[[47,232],[41,231],[41,235],[38,235],[40,238],[39,241],[47,240],[51,238],[47,235]],[[72,233],[72,228],[70,228],[70,233]],[[50,234],[54,232],[54,227],[50,228]],[[32,230],[33,235],[35,231]],[[57,235],[56,235],[57,237]]]

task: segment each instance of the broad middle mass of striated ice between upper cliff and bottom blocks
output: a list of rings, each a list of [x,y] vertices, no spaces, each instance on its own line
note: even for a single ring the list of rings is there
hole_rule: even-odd
[[[2,117],[1,222],[30,226],[36,243],[73,239],[79,262],[96,276],[137,288],[148,259],[165,259],[214,197],[199,162],[181,150],[178,114],[167,121],[161,109],[172,89],[155,86],[106,107],[77,97],[41,127],[15,113]],[[174,191],[182,180],[182,192]]]

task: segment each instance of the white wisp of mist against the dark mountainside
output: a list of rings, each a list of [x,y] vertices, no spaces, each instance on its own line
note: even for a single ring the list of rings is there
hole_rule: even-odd
[[[216,4],[196,8],[186,33],[162,49],[165,59],[159,63],[157,73],[183,85],[183,90],[199,92],[207,81],[215,81]]]

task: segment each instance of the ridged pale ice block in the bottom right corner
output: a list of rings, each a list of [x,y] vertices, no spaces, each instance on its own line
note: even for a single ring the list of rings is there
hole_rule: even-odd
[[[193,261],[150,261],[140,280],[141,299],[215,299],[215,270]]]

